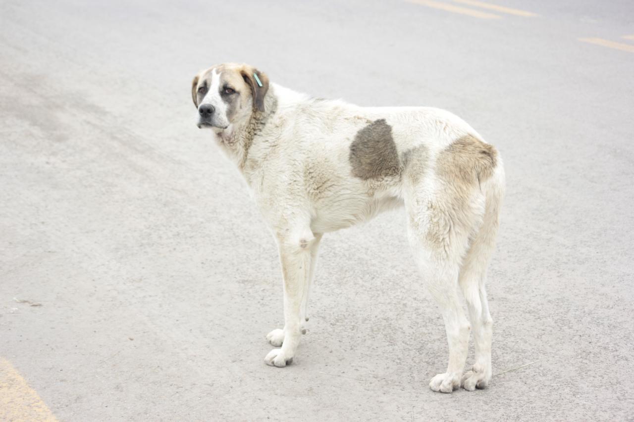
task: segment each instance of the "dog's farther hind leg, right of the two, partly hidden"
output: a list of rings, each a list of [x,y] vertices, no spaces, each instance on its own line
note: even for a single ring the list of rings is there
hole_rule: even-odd
[[[469,252],[463,259],[459,277],[460,288],[467,302],[474,333],[475,364],[462,378],[462,387],[469,391],[475,388],[486,388],[491,381],[493,319],[489,314],[485,283],[486,270],[495,249],[503,181],[497,177],[483,187],[487,195],[482,225],[477,230]]]

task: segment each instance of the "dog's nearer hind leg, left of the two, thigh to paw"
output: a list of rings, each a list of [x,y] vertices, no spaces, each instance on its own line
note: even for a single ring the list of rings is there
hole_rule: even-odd
[[[450,393],[460,387],[469,347],[470,324],[458,298],[460,260],[469,234],[460,229],[460,212],[446,198],[433,193],[418,195],[411,189],[405,205],[410,245],[427,290],[440,307],[449,344],[447,370],[434,376],[429,387]]]

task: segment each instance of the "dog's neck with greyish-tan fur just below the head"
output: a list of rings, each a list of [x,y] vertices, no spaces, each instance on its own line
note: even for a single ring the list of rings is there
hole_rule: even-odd
[[[273,89],[269,89],[269,92],[266,93],[266,97],[264,98],[263,112],[254,108],[248,118],[236,124],[229,125],[227,129],[215,132],[216,142],[220,148],[224,150],[230,160],[236,163],[242,173],[245,172],[249,158],[249,150],[254,142],[254,138],[261,134],[264,126],[275,114],[277,106],[278,99],[275,92],[273,92]]]

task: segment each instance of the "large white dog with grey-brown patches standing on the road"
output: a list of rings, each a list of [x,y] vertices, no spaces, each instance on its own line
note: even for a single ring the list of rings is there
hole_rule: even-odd
[[[404,206],[409,243],[449,343],[447,371],[429,387],[488,386],[493,321],[484,285],[505,189],[493,146],[444,110],[311,98],[246,64],[200,72],[191,97],[198,127],[209,128],[238,167],[277,241],[284,327],[266,336],[278,347],[266,364],[281,368],[295,356],[323,234]],[[470,331],[475,363],[463,374]]]

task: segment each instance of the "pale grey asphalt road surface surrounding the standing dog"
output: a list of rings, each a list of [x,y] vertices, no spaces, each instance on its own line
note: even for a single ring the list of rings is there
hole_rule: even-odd
[[[537,16],[3,1],[0,420],[633,418],[634,3],[495,4]],[[264,364],[275,243],[190,98],[223,61],[314,96],[446,108],[501,151],[490,388],[429,390],[446,337],[401,212],[325,236],[309,333],[291,366]]]

